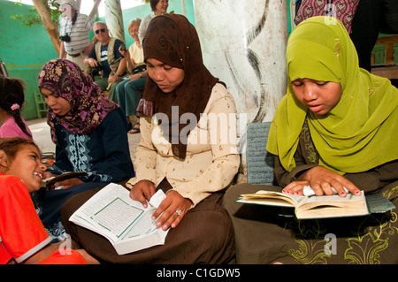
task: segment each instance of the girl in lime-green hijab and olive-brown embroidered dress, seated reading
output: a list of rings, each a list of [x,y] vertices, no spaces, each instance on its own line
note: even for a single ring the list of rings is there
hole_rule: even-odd
[[[314,36],[316,34],[316,36]],[[367,217],[297,220],[276,209],[233,202],[274,190],[347,196],[379,193],[396,201],[398,90],[359,68],[356,49],[338,19],[314,17],[287,42],[287,95],[272,121],[267,150],[279,187],[240,184],[226,192],[237,263],[398,263],[396,209]],[[337,237],[326,254],[327,233]],[[375,233],[379,233],[376,238]],[[252,244],[255,241],[256,244]],[[354,247],[356,246],[356,247]]]

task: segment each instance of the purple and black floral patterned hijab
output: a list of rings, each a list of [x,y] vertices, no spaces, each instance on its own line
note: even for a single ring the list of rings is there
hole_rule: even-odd
[[[103,96],[101,89],[80,67],[65,59],[52,59],[42,67],[38,78],[39,88],[46,88],[64,98],[71,111],[58,116],[50,108],[47,123],[50,126],[52,141],[57,144],[54,123],[64,126],[71,133],[88,134],[101,124],[103,118],[119,105]]]

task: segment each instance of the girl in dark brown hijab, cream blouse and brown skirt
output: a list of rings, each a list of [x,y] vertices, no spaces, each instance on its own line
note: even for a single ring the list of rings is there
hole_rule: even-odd
[[[157,189],[165,191],[153,214],[159,228],[170,228],[165,245],[117,255],[108,240],[67,222],[93,192],[65,204],[66,229],[103,263],[228,263],[234,236],[222,197],[240,163],[233,97],[203,65],[198,35],[185,17],[152,19],[142,43],[150,79],[137,111],[136,176],[126,187],[144,206]]]

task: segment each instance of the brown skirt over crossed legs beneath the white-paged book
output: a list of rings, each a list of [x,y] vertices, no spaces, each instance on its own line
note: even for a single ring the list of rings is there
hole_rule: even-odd
[[[165,181],[164,181],[165,182]],[[163,188],[162,183],[158,186]],[[170,185],[169,185],[170,186]],[[100,263],[229,263],[235,254],[233,225],[222,207],[222,194],[213,193],[188,211],[176,228],[167,233],[165,244],[118,255],[109,240],[75,225],[69,217],[99,189],[76,194],[65,203],[62,218],[72,239]]]

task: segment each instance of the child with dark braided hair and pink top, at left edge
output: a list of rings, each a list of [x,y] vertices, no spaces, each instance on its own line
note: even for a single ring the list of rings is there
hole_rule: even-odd
[[[0,75],[0,138],[19,136],[32,139],[27,123],[20,115],[24,103],[23,81]]]

